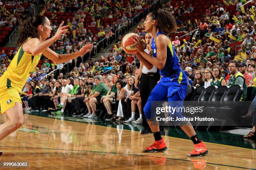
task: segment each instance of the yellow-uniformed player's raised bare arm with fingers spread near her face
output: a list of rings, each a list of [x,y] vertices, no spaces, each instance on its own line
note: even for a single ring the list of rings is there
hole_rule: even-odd
[[[41,42],[38,38],[31,38],[23,45],[23,50],[33,54],[38,55],[44,52],[50,45],[52,45],[56,40],[58,40],[63,33],[65,33],[69,27],[69,25],[63,26],[64,22],[59,25],[58,30],[56,31],[55,35],[48,40]]]

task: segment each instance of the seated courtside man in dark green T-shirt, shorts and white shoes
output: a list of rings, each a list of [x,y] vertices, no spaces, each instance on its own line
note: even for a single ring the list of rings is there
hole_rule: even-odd
[[[96,104],[100,103],[101,97],[108,94],[108,86],[101,81],[101,76],[94,77],[95,86],[88,97],[84,99],[88,113],[84,117],[96,118]]]

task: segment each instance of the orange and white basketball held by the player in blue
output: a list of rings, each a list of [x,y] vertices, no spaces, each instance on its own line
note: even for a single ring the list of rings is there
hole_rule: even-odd
[[[135,47],[136,42],[133,40],[133,37],[139,36],[135,33],[128,33],[123,37],[121,42],[123,50],[128,54],[135,54],[136,52],[138,52],[137,48]]]

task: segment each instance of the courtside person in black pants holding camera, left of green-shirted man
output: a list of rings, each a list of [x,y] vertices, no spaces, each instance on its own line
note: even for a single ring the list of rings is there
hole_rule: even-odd
[[[77,110],[76,112],[74,112],[73,116],[82,116],[83,112],[81,112],[81,104],[84,104],[84,99],[92,92],[92,88],[95,86],[94,83],[94,78],[93,76],[89,76],[88,77],[88,82],[83,82],[82,84],[82,94],[84,94],[84,97],[76,97],[74,98],[71,102],[72,105],[75,107],[75,109]]]

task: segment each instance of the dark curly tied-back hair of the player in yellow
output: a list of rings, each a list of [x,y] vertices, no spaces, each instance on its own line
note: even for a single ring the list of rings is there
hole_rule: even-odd
[[[28,37],[39,38],[37,26],[44,25],[45,22],[46,17],[43,15],[35,15],[32,18],[28,17],[26,20],[24,20],[19,26],[20,37],[17,44],[19,46],[22,45],[28,39]]]

